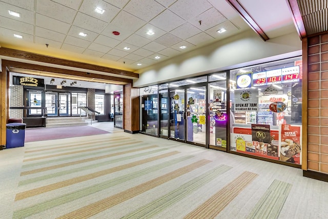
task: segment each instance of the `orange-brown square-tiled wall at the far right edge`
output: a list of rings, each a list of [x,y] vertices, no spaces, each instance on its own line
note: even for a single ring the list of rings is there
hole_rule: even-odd
[[[308,169],[328,173],[328,33],[308,38]]]

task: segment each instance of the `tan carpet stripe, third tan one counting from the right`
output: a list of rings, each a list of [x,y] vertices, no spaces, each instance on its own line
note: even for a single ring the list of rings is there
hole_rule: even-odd
[[[178,153],[180,153],[180,152],[172,151],[172,152],[168,152],[168,153],[165,153],[165,154],[149,157],[149,158],[146,158],[144,160],[132,162],[130,164],[125,164],[125,165],[121,165],[121,166],[118,166],[118,167],[113,167],[113,168],[110,168],[110,169],[107,169],[107,170],[102,170],[102,171],[87,174],[87,175],[84,175],[84,176],[71,178],[70,180],[65,180],[65,181],[62,181],[62,182],[58,182],[58,183],[54,183],[54,184],[51,184],[51,185],[39,187],[39,188],[36,188],[36,189],[31,189],[31,190],[28,190],[28,191],[25,191],[25,192],[20,192],[20,193],[16,194],[15,201],[22,200],[24,198],[31,197],[31,196],[38,195],[38,194],[42,194],[44,192],[52,191],[52,190],[55,190],[55,189],[63,188],[63,187],[66,187],[66,186],[70,186],[70,185],[73,185],[73,184],[76,184],[76,183],[81,183],[81,182],[85,182],[85,181],[88,181],[88,180],[92,180],[93,178],[96,178],[96,177],[99,177],[99,176],[107,175],[107,174],[110,174],[110,173],[113,173],[113,172],[121,171],[121,170],[124,170],[124,169],[128,169],[128,168],[131,168],[131,167],[141,165],[141,164],[146,164],[148,162],[156,161],[156,160],[159,160],[160,158],[172,156],[172,155],[175,155],[175,154],[178,154]]]

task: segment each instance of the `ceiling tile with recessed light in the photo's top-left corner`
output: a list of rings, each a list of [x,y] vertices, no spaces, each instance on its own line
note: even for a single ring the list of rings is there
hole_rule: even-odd
[[[9,10],[20,13],[20,17],[15,17],[9,14]],[[23,8],[19,8],[13,5],[9,5],[3,2],[0,2],[0,14],[2,16],[15,19],[20,22],[28,23],[28,24],[34,24],[34,12],[29,11]]]

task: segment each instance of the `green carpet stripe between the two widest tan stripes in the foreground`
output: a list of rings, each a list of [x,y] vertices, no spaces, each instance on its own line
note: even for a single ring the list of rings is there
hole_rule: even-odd
[[[232,167],[226,165],[220,165],[196,178],[194,180],[189,181],[188,183],[180,186],[176,190],[163,195],[157,200],[152,201],[151,203],[140,207],[139,209],[127,214],[122,218],[151,218],[163,211],[164,209],[172,206],[178,201],[182,200],[204,184],[212,181],[215,177],[220,174],[223,174],[230,170]]]

